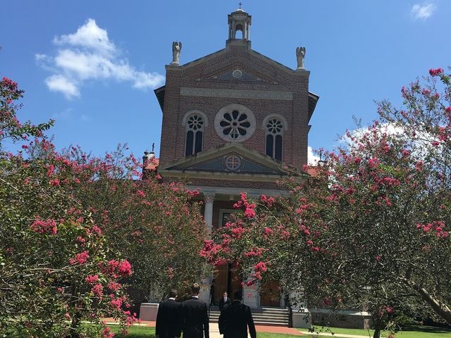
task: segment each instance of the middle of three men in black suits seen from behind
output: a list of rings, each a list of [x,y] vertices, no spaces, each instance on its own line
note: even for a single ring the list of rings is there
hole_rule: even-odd
[[[180,327],[183,338],[209,338],[209,314],[204,301],[199,299],[200,286],[192,284],[191,299],[182,303]]]

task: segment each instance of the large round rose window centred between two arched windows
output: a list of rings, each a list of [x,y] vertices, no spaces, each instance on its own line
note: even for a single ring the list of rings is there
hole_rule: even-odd
[[[221,139],[244,142],[254,134],[255,117],[249,108],[240,104],[229,104],[216,114],[214,127]]]

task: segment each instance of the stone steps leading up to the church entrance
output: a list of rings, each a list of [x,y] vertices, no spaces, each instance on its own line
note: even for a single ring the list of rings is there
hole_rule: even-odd
[[[218,323],[220,311],[218,306],[211,306],[210,323]],[[288,308],[252,308],[255,325],[286,326],[290,324]]]

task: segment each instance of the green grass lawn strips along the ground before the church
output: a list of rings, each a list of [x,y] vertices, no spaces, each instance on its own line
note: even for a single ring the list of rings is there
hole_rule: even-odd
[[[117,325],[111,325],[111,331],[117,333],[119,330]],[[305,331],[305,329],[299,329],[300,331]],[[339,334],[355,334],[359,336],[368,336],[368,330],[359,330],[359,329],[342,329],[339,327],[330,327],[331,332],[339,333]],[[130,327],[130,334],[126,337],[128,338],[154,338],[155,337],[155,328],[154,327],[139,327],[133,326]],[[326,330],[323,330],[326,332]],[[371,334],[373,334],[373,330],[370,330]],[[118,338],[125,338],[120,334],[116,335]],[[291,334],[276,334],[276,333],[266,333],[266,332],[258,332],[258,338],[299,338],[299,336],[293,336]],[[310,338],[316,336],[304,335],[302,337]],[[320,334],[319,337],[325,337]],[[402,332],[397,332],[396,338],[451,338],[451,331],[440,329],[438,327],[415,327],[413,330],[405,330]]]

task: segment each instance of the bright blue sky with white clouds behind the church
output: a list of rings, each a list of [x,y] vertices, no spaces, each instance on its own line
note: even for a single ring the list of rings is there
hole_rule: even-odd
[[[400,88],[429,68],[451,65],[451,1],[242,1],[252,49],[295,68],[307,48],[310,91],[320,100],[309,145],[332,148],[370,123],[374,100],[400,104]],[[127,142],[142,155],[161,134],[153,89],[164,82],[171,44],[180,63],[226,45],[237,1],[16,0],[1,5],[0,75],[25,89],[21,120],[53,118],[58,148],[101,155]]]

